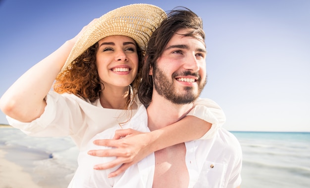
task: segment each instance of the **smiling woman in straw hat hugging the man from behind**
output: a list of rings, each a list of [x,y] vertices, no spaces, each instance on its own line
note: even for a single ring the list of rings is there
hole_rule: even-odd
[[[9,123],[31,136],[69,135],[84,150],[97,133],[128,122],[141,106],[134,93],[140,79],[139,54],[165,17],[165,12],[154,5],[131,4],[93,20],[4,93],[0,108]],[[55,79],[55,91],[50,91]],[[118,142],[114,144],[119,150],[92,151],[90,154],[97,156],[117,156],[96,168],[125,163],[110,174],[116,176],[155,150],[201,138],[211,124],[204,138],[212,136],[225,117],[218,106],[201,105],[205,105],[204,101],[195,108],[204,108],[205,113],[197,114],[193,109],[189,114],[209,123],[187,116],[173,126],[150,133],[118,131],[120,137],[131,135],[120,139],[126,147],[119,147]],[[187,126],[188,122],[193,126]]]

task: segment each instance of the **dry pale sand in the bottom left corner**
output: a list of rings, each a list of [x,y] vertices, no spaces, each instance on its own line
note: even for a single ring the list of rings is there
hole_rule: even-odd
[[[0,188],[40,188],[33,182],[30,174],[4,158],[5,151],[0,150]]]

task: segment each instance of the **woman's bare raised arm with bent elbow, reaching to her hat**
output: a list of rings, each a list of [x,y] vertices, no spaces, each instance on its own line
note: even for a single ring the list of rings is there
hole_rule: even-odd
[[[23,122],[39,117],[46,106],[44,98],[50,91],[73,44],[70,41],[65,42],[18,78],[0,99],[3,113]]]

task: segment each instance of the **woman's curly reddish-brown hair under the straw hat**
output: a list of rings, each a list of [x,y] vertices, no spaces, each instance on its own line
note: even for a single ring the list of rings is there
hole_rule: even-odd
[[[137,46],[139,58],[138,73],[142,67],[142,51]],[[96,53],[98,51],[98,42],[89,47],[84,53],[77,57],[61,74],[59,74],[53,85],[53,89],[57,93],[72,93],[91,102],[96,101],[100,97],[101,82],[96,65]],[[136,91],[140,83],[140,74],[137,74],[131,86]]]

